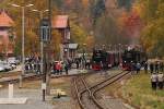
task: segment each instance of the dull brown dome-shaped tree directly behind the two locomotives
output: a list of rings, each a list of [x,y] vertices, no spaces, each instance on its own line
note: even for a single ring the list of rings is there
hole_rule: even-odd
[[[103,15],[95,24],[95,37],[97,44],[118,44],[119,28],[116,21],[109,15]]]

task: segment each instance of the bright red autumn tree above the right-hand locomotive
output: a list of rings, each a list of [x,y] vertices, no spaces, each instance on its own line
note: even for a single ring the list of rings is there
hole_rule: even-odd
[[[129,39],[130,44],[139,44],[140,33],[143,22],[139,14],[139,10],[134,7],[130,12],[124,12],[119,19],[121,25],[121,33]]]

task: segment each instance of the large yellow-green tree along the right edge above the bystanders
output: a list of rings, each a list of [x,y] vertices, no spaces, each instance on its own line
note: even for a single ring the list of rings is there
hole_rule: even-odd
[[[142,3],[143,1],[140,1]],[[153,57],[164,56],[164,1],[147,0],[143,2],[142,20],[145,22],[144,29],[141,35],[141,43],[145,50]]]

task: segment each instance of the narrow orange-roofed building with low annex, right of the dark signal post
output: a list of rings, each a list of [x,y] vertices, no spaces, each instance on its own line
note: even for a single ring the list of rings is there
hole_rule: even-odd
[[[78,49],[78,44],[70,43],[70,20],[68,15],[57,15],[52,20],[52,28],[61,34],[60,59],[73,59]]]

